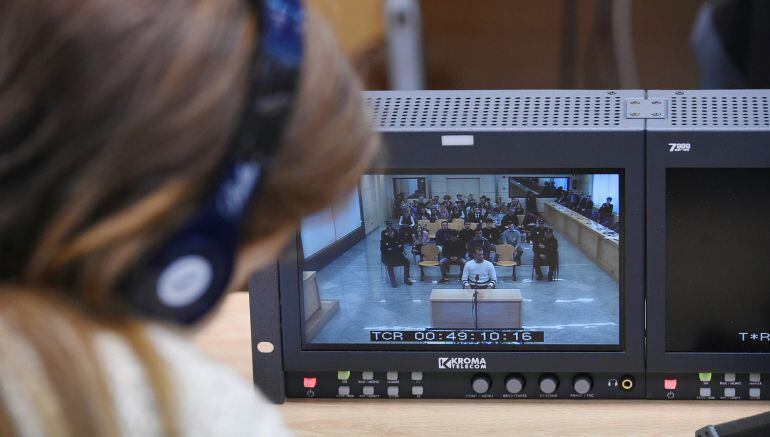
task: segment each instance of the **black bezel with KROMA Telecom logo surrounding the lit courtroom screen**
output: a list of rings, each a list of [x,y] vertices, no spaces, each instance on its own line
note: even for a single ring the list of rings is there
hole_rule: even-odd
[[[467,135],[469,132],[462,132]],[[515,169],[516,173],[538,173],[545,170],[567,169],[576,173],[611,173],[617,169],[623,176],[622,214],[623,251],[621,252],[623,277],[621,278],[622,350],[599,351],[427,351],[424,345],[415,350],[306,350],[302,348],[301,302],[299,287],[300,256],[293,244],[281,257],[279,276],[283,324],[284,360],[287,370],[301,370],[312,362],[313,368],[336,369],[344,356],[349,368],[370,368],[381,364],[382,359],[398,363],[404,369],[435,368],[438,357],[494,357],[494,365],[521,369],[550,368],[569,370],[582,368],[586,371],[644,370],[644,288],[643,288],[643,187],[644,187],[644,133],[637,130],[618,131],[516,131],[472,133],[472,148],[441,146],[441,135],[454,132],[387,132],[384,134],[387,164],[375,166],[372,173],[413,174],[420,171],[456,172],[501,171]],[[437,153],[444,156],[436,162]],[[494,158],[494,159],[490,159]],[[495,167],[484,166],[495,162]],[[440,165],[439,165],[440,164]],[[612,346],[614,347],[614,346]],[[389,365],[391,365],[389,363]],[[392,366],[391,366],[392,367]],[[398,367],[398,366],[396,366]],[[398,370],[395,368],[394,370]]]

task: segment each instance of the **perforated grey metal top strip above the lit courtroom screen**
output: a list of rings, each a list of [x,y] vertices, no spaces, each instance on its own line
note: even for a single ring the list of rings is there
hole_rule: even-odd
[[[633,94],[633,95],[632,95]],[[616,129],[623,117],[616,91],[369,91],[372,122],[381,130]]]

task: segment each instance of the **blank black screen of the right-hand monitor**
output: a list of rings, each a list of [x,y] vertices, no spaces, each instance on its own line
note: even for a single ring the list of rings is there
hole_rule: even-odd
[[[666,172],[666,349],[770,352],[770,169]]]

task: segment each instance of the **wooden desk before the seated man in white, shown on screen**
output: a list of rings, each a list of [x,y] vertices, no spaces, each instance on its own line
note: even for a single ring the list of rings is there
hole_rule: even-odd
[[[518,289],[479,290],[478,327],[521,328],[521,292]],[[430,292],[431,327],[473,329],[473,290],[434,288]]]

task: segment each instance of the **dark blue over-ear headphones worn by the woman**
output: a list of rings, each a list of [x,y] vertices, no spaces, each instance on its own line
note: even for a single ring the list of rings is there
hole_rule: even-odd
[[[302,59],[301,0],[249,0],[260,21],[252,85],[221,176],[200,211],[127,278],[134,310],[179,324],[208,313],[233,273],[241,222],[260,195],[291,113]]]

